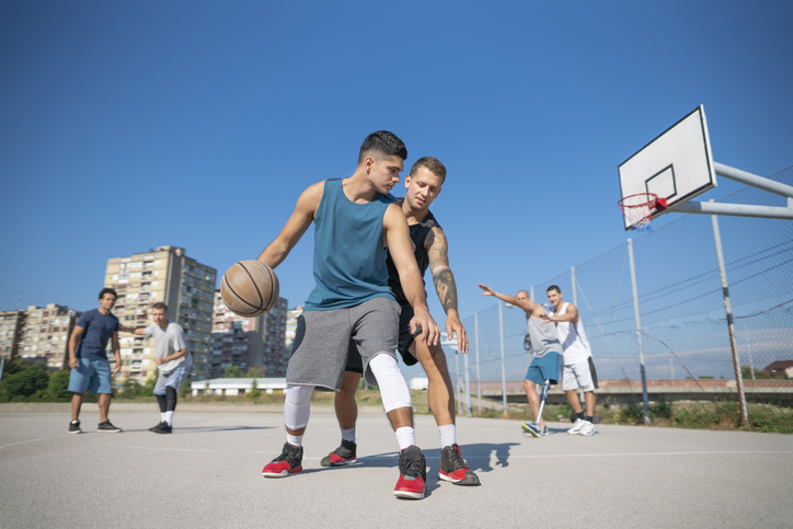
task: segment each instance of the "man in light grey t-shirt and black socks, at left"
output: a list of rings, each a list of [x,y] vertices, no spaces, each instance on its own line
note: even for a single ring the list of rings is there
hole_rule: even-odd
[[[157,364],[157,383],[154,396],[160,405],[160,422],[149,428],[154,434],[173,432],[173,412],[182,383],[189,375],[193,356],[187,349],[187,340],[179,323],[168,320],[168,306],[157,302],[151,306],[154,320],[145,329],[119,327],[123,332],[146,335],[154,338],[154,364]]]

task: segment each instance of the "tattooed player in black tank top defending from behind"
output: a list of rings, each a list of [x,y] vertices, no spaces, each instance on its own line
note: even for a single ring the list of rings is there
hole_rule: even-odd
[[[407,218],[411,240],[415,245],[414,255],[422,278],[427,268],[432,271],[435,290],[446,311],[448,336],[457,335],[460,352],[468,353],[468,336],[457,309],[457,285],[449,268],[448,243],[444,230],[429,211],[429,205],[440,193],[445,180],[446,168],[440,161],[432,157],[417,160],[411,168],[410,174],[405,176],[405,187],[407,187],[405,198],[398,199],[398,204]],[[428,346],[424,341],[414,341],[409,325],[413,317],[413,309],[405,299],[399,274],[390,256],[387,263],[389,286],[402,308],[400,354],[405,365],[412,366],[420,361],[427,373],[429,409],[438,425],[443,446],[438,478],[457,485],[479,485],[479,478],[462,460],[460,447],[457,445],[455,393],[446,365],[446,355],[439,344]],[[356,460],[355,422],[358,409],[355,393],[360,381],[360,356],[355,343],[350,343],[347,367],[335,400],[336,417],[342,429],[342,445],[322,460],[323,467],[338,467]]]

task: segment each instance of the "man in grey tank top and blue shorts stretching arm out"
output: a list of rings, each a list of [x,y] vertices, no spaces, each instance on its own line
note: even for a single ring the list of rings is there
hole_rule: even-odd
[[[562,370],[562,343],[559,340],[555,325],[545,323],[548,314],[541,304],[535,303],[526,290],[518,290],[518,294],[507,296],[499,294],[486,285],[479,286],[482,296],[495,296],[515,307],[520,307],[526,312],[529,322],[529,337],[535,356],[529,364],[529,370],[524,380],[524,390],[529,400],[529,406],[535,414],[535,421],[522,423],[520,427],[535,437],[548,435],[545,421],[538,416],[540,413],[540,395],[537,394],[537,384],[543,386],[545,380],[550,386],[559,383],[559,376]]]

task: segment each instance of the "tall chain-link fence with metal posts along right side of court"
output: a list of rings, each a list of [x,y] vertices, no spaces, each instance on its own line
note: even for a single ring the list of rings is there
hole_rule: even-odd
[[[793,185],[793,166],[770,179]],[[788,206],[784,197],[748,186],[717,202]],[[793,221],[720,216],[716,222],[727,289],[722,288],[714,220],[708,215],[679,216],[530,288],[532,299],[543,303],[548,287],[558,285],[564,300],[578,308],[601,394],[609,394],[610,386],[627,386],[641,402],[647,394],[643,363],[645,388],[656,398],[735,399],[739,382],[727,294],[746,400],[791,405],[793,364],[785,360],[793,360]],[[463,322],[474,331],[469,331],[474,393],[483,381],[514,391],[526,373],[525,314],[507,307],[499,303]]]

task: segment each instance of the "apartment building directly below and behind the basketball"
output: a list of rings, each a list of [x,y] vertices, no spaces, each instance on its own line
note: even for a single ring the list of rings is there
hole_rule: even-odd
[[[230,364],[242,372],[255,367],[266,377],[283,377],[286,304],[286,299],[278,298],[265,314],[242,318],[226,307],[220,290],[216,290],[207,378],[222,377]]]

